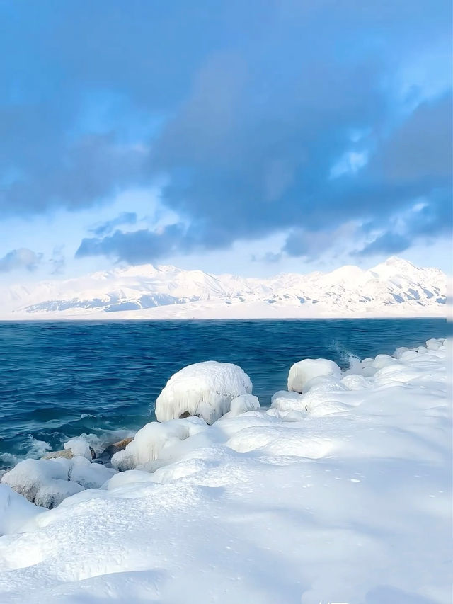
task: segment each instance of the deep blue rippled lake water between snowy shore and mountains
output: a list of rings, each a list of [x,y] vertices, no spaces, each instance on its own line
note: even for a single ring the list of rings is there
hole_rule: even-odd
[[[391,354],[449,327],[444,319],[0,323],[0,469],[42,455],[44,443],[136,431],[154,419],[168,378],[190,363],[241,365],[268,405],[297,360],[347,367],[351,355]]]

